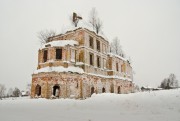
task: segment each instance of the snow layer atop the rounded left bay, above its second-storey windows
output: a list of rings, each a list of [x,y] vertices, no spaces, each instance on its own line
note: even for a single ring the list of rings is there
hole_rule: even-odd
[[[64,47],[66,45],[79,45],[78,41],[75,40],[55,40],[52,42],[48,42],[46,44],[44,44],[41,49],[46,48],[46,46],[50,45],[51,47]]]

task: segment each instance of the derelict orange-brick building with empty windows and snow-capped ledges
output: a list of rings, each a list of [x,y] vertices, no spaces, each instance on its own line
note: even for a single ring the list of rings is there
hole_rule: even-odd
[[[86,99],[93,93],[134,91],[129,61],[110,53],[110,44],[86,28],[48,39],[38,51],[31,98]]]

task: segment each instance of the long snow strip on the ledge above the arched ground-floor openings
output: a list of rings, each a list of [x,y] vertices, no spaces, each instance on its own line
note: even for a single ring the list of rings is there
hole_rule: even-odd
[[[58,67],[45,67],[34,71],[34,74],[38,74],[41,72],[76,72],[76,73],[84,73],[82,68],[69,66],[68,68],[64,68],[63,66]]]

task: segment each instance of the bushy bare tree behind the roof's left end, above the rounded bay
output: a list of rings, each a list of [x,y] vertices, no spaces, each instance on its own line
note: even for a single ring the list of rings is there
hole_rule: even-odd
[[[37,37],[40,40],[41,44],[46,44],[49,42],[49,38],[56,35],[56,32],[54,30],[42,30],[38,32]]]

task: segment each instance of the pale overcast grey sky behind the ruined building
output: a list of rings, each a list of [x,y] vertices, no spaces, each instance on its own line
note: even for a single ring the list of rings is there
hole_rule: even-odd
[[[134,82],[158,86],[180,80],[179,0],[0,0],[0,83],[24,89],[37,67],[37,32],[69,26],[72,12],[85,21],[96,7],[103,32],[119,37],[131,57]]]

